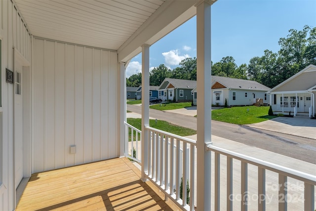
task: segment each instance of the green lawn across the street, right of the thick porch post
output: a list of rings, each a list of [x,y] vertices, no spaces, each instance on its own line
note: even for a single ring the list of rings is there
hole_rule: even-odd
[[[246,125],[260,123],[277,117],[269,116],[268,111],[269,106],[244,106],[223,108],[212,111],[212,120],[233,123],[237,125]]]

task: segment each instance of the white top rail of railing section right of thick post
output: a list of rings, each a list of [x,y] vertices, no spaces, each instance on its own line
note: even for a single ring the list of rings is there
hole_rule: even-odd
[[[263,160],[260,160],[257,158],[253,158],[250,156],[239,154],[237,152],[226,150],[226,149],[223,149],[221,147],[217,147],[217,146],[214,146],[211,144],[207,145],[207,150],[211,150],[211,151],[217,152],[219,154],[226,155],[228,157],[237,159],[239,161],[242,161],[242,162],[245,162],[248,164],[252,164],[252,165],[257,166],[257,167],[263,167],[265,169],[268,169],[268,170],[271,170],[271,171],[274,171],[274,172],[280,173],[282,175],[289,176],[289,177],[292,177],[292,178],[295,178],[295,179],[298,179],[298,180],[301,180],[304,182],[307,182],[307,183],[312,184],[312,185],[316,185],[316,175],[312,175],[312,174],[301,172],[301,171],[298,171],[295,169],[290,169],[287,167],[279,166],[279,165],[276,165],[276,164],[273,164],[273,163],[270,163],[267,161],[263,161]]]

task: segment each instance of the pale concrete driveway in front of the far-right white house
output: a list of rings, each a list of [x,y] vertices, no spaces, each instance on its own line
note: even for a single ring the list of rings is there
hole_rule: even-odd
[[[316,120],[306,117],[276,117],[245,126],[316,139]]]

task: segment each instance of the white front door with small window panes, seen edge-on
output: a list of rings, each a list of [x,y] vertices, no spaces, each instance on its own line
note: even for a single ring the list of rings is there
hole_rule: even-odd
[[[18,62],[15,63],[14,89],[14,183],[16,189],[23,178],[22,65]]]

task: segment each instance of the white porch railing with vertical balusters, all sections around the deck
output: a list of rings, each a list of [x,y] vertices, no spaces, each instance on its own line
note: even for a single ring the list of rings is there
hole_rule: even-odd
[[[197,193],[195,186],[195,174],[197,173],[195,169],[196,141],[152,127],[146,127],[146,130],[149,131],[148,172],[145,172],[147,178],[183,210],[193,211]],[[125,156],[137,162],[141,162],[141,140],[138,138],[140,133],[140,130],[125,123]],[[129,139],[130,141],[128,141]],[[134,147],[136,147],[136,156],[133,156],[132,149]],[[186,150],[183,151],[183,149]],[[278,210],[287,210],[287,207],[294,207],[294,210],[315,210],[315,175],[278,166],[213,145],[208,145],[206,149],[212,151],[215,157],[213,162],[214,181],[212,183],[212,187],[214,187],[214,198],[212,200],[214,200],[215,210],[233,210],[233,203],[238,201],[234,200],[233,197],[234,194],[237,195],[236,191],[239,190],[238,194],[240,197],[238,199],[240,200],[238,203],[240,203],[240,210],[247,210],[249,199],[252,199],[253,202],[254,196],[257,197],[258,203],[256,210],[265,210],[266,202],[270,203],[268,199],[272,195],[277,200],[273,205],[277,206],[278,204]],[[226,158],[226,172],[223,170],[225,163],[221,164],[220,162],[223,157]],[[238,162],[240,167],[236,167],[236,162]],[[257,168],[257,174],[252,172],[254,168]],[[250,171],[251,173],[248,173]],[[266,171],[269,173],[266,173]],[[224,175],[221,174],[222,172],[224,172]],[[271,172],[275,175],[271,176]],[[238,176],[235,174],[238,174]],[[183,178],[182,200],[180,199],[181,177]],[[269,181],[269,178],[272,177],[276,179]],[[221,193],[221,185],[223,188],[223,180],[225,179],[227,183],[224,186],[226,186],[227,190]],[[288,191],[289,187],[294,184],[292,181],[294,179],[300,183],[299,190],[295,193],[291,192],[291,190]],[[255,181],[255,185],[251,184],[249,186],[248,180],[251,182]],[[189,182],[190,188],[189,205],[187,204],[186,181]],[[266,191],[266,187],[275,187],[277,192]],[[223,201],[225,198],[226,208],[225,205],[220,204],[220,201]],[[297,207],[296,203],[301,207]],[[236,204],[234,204],[234,208],[236,208]]]

